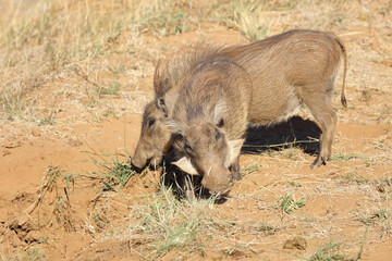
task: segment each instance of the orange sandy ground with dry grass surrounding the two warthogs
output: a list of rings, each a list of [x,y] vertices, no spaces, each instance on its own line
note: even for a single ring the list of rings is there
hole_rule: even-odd
[[[392,1],[0,0],[0,178],[11,184],[0,260],[391,257]],[[131,169],[133,113],[152,97],[161,55],[293,28],[335,32],[348,50],[348,109],[339,74],[327,166],[308,169],[301,141],[317,137],[267,129],[272,146],[242,156],[244,179],[222,204],[176,198],[164,170]],[[25,173],[37,186],[5,182]],[[285,244],[296,237],[305,244]]]

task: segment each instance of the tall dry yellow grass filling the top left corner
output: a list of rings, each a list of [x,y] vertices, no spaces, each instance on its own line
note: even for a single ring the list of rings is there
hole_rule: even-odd
[[[35,90],[75,70],[95,89],[87,90],[89,104],[119,95],[119,82],[107,85],[89,77],[97,70],[93,60],[113,53],[144,57],[151,70],[156,58],[143,50],[140,34],[161,37],[198,27],[192,5],[179,1],[2,1],[0,7],[8,14],[0,20],[2,121],[29,120],[39,110]],[[123,64],[107,70],[113,75],[126,71]]]

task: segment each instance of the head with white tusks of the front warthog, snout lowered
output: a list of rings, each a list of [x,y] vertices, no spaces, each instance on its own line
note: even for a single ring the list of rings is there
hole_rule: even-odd
[[[201,175],[201,185],[216,196],[225,196],[231,190],[229,166],[238,157],[244,141],[228,140],[223,125],[223,120],[218,124],[195,120],[180,127],[173,120],[167,121],[173,133],[173,148],[184,156],[173,164],[188,174]]]

